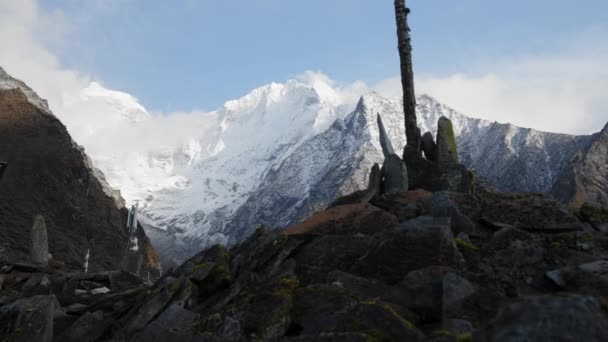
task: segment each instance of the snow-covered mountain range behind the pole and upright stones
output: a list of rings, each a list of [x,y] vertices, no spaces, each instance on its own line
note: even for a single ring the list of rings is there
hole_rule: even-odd
[[[259,224],[295,223],[363,188],[371,166],[382,161],[376,114],[395,149],[403,148],[405,133],[399,99],[360,95],[357,103],[352,91],[345,96],[329,82],[290,80],[213,112],[165,117],[92,83],[52,109],[127,204],[139,203],[168,259],[239,241]],[[592,148],[598,135],[474,119],[418,98],[422,132],[435,133],[441,116],[453,122],[461,161],[500,190],[555,194],[572,158],[603,146]]]

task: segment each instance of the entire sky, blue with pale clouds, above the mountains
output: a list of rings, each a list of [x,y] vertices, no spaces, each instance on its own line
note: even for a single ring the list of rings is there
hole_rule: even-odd
[[[608,1],[408,6],[419,92],[545,130],[588,133],[608,121]],[[392,0],[0,0],[0,65],[17,58],[15,27],[53,67],[164,113],[212,110],[308,70],[399,89]]]

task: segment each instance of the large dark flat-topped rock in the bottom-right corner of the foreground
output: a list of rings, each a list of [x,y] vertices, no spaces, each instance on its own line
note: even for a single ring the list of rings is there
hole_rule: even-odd
[[[501,309],[474,340],[607,341],[608,314],[593,297],[530,297]]]

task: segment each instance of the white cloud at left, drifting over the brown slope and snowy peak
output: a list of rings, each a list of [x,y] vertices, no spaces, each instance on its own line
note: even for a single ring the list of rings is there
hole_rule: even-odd
[[[105,11],[118,0],[97,0],[87,6]],[[126,0],[120,0],[126,1]],[[35,0],[0,0],[0,66],[23,80],[38,95],[47,99],[51,110],[66,125],[74,140],[89,154],[126,156],[163,146],[187,143],[187,137],[201,134],[206,116],[201,112],[151,114],[146,122],[124,124],[126,108],[145,109],[137,99],[124,93],[105,90],[89,96],[90,75],[63,68],[50,46],[61,46],[72,22],[61,11],[45,11]],[[120,104],[113,103],[121,99]],[[141,113],[139,113],[141,115]],[[129,118],[127,118],[129,119]],[[140,117],[141,119],[141,117]],[[121,121],[122,120],[122,121]]]

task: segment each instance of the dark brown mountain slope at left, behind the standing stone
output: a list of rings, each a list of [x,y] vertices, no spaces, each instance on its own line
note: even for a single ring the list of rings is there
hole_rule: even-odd
[[[0,89],[0,159],[9,165],[0,183],[0,259],[30,259],[32,222],[41,215],[53,260],[82,269],[90,250],[91,271],[117,268],[128,240],[126,211],[44,102],[6,77],[2,84],[16,88]],[[137,238],[146,271],[158,275],[158,257],[141,227]]]

